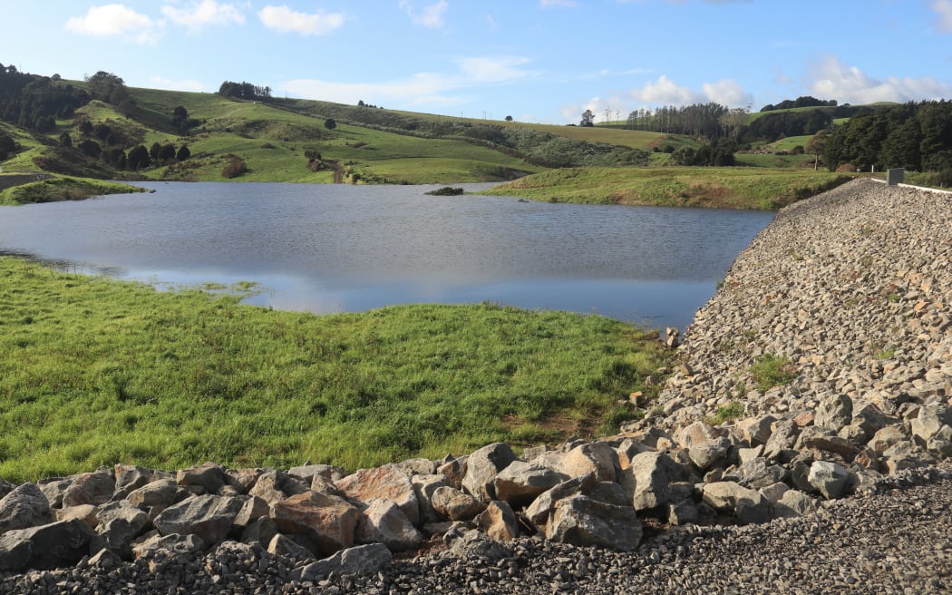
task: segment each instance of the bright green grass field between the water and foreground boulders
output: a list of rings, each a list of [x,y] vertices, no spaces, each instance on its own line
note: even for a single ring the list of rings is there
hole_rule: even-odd
[[[635,327],[493,305],[316,316],[0,258],[0,476],[354,469],[612,431],[667,364]]]

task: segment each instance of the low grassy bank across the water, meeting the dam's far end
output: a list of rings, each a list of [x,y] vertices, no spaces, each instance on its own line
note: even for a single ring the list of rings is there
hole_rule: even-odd
[[[483,193],[558,203],[774,209],[851,179],[812,169],[554,169]]]

